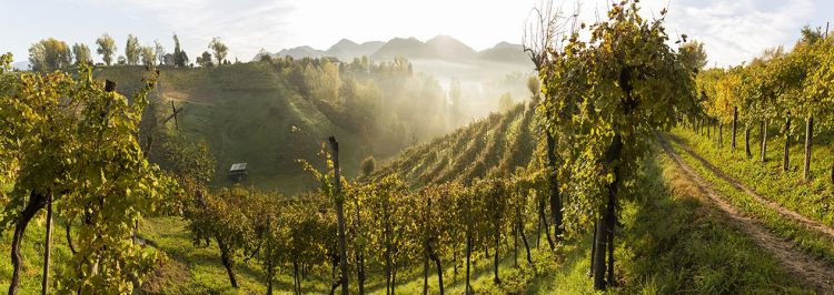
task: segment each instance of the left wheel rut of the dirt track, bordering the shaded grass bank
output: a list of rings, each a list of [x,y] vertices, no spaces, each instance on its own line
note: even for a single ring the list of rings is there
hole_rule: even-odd
[[[726,199],[713,189],[709,182],[701,177],[693,167],[686,164],[668,146],[665,139],[659,138],[666,154],[677,164],[677,169],[686,175],[686,179],[697,187],[698,195],[696,197],[703,202],[712,203],[716,208],[721,210],[728,223],[732,223],[736,228],[751,237],[758,247],[773,254],[780,265],[785,267],[788,273],[804,279],[821,294],[834,294],[833,266],[825,264],[818,258],[808,256],[792,242],[773,235],[758,224],[756,220],[746,216],[743,212],[731,205]]]

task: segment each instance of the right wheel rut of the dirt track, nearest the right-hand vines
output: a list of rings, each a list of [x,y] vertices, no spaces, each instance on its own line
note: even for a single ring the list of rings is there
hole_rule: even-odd
[[[758,202],[758,203],[761,203],[761,204],[763,204],[763,205],[765,205],[765,206],[767,206],[767,207],[770,207],[770,208],[778,212],[783,217],[792,220],[794,222],[797,222],[797,223],[804,225],[805,227],[807,227],[808,230],[823,233],[823,234],[827,235],[828,237],[834,238],[834,228],[832,228],[831,226],[827,226],[827,225],[825,225],[825,224],[823,224],[821,222],[817,222],[817,221],[811,220],[808,217],[805,217],[804,215],[802,215],[800,213],[796,213],[795,211],[792,211],[790,208],[783,207],[778,203],[773,202],[770,199],[766,199],[766,197],[759,195],[758,193],[754,192],[751,189],[747,189],[747,186],[745,186],[744,184],[742,184],[742,182],[739,182],[738,180],[736,180],[736,179],[734,179],[734,177],[725,174],[718,167],[716,167],[715,165],[713,165],[713,163],[709,163],[709,161],[706,161],[706,159],[702,157],[699,154],[697,154],[695,151],[693,151],[688,145],[686,145],[685,143],[683,143],[681,141],[681,139],[678,139],[678,138],[676,138],[674,135],[671,135],[669,138],[673,141],[675,141],[678,145],[681,145],[681,148],[683,148],[684,151],[686,151],[686,153],[688,153],[689,155],[692,155],[693,157],[695,157],[695,160],[698,160],[698,162],[701,162],[707,170],[709,170],[713,174],[715,174],[715,176],[718,176],[719,179],[725,180],[726,182],[728,182],[729,184],[732,184],[736,190],[738,190],[741,192],[744,192],[745,194],[747,194],[747,195],[752,196],[754,200],[756,200],[756,202]],[[834,276],[834,274],[832,274],[832,276]]]

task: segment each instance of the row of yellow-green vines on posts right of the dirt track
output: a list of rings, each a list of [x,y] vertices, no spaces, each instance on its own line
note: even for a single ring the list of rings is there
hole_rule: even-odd
[[[774,121],[782,121],[785,136],[782,166],[788,169],[788,148],[804,128],[805,159],[803,179],[811,175],[811,150],[814,134],[831,130],[834,118],[834,37],[821,29],[805,27],[793,50],[766,51],[748,64],[729,69],[711,69],[698,74],[699,112],[688,122],[706,134],[715,134],[724,146],[724,126],[729,126],[729,148],[736,149],[738,126],[744,129],[744,151],[749,149],[751,130],[761,134],[759,159],[765,162],[767,131]],[[796,124],[794,122],[803,122]],[[713,131],[713,129],[715,131]],[[834,182],[834,163],[832,163]]]

